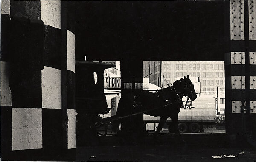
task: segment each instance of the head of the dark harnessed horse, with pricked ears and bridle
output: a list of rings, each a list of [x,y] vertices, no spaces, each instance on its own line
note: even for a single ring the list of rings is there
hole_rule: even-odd
[[[192,82],[189,79],[189,75],[187,75],[187,77],[184,76],[183,86],[183,95],[189,97],[190,100],[194,101],[197,98],[197,95],[195,93],[194,84],[192,84]]]

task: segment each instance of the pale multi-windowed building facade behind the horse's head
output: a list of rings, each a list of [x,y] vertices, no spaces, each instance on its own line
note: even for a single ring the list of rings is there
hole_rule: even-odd
[[[160,87],[186,75],[200,78],[201,94],[225,92],[224,61],[143,61],[143,77]]]

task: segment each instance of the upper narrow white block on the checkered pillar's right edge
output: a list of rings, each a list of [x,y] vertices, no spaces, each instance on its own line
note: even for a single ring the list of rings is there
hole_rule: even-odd
[[[71,31],[67,30],[67,70],[75,73],[76,65],[76,36]]]

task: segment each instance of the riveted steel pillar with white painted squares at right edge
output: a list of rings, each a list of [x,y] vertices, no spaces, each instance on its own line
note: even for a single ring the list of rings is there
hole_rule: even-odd
[[[256,134],[255,1],[230,1],[230,53],[225,55],[227,134]]]

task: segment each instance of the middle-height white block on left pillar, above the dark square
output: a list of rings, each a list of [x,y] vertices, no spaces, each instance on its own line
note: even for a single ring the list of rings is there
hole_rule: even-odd
[[[44,66],[42,73],[42,108],[61,109],[61,70]]]

